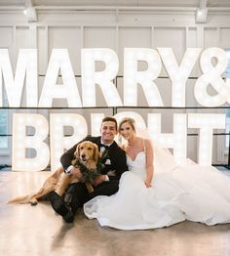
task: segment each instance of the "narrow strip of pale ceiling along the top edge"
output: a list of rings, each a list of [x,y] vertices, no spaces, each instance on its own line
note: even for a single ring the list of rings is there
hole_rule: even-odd
[[[24,7],[32,5],[36,8],[46,6],[103,6],[103,7],[199,7],[200,2],[206,3],[209,8],[230,7],[230,0],[0,0],[0,8]]]

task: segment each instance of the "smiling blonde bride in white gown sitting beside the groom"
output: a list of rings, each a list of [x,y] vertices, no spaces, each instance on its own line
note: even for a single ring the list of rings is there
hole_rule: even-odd
[[[167,149],[137,137],[134,119],[124,118],[120,135],[127,141],[128,172],[119,191],[96,196],[84,205],[90,219],[121,230],[169,227],[184,220],[207,225],[230,223],[230,178],[214,167],[187,160],[176,165]]]

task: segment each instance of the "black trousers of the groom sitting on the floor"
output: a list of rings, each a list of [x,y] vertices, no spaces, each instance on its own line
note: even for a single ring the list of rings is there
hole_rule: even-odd
[[[82,207],[83,204],[97,195],[111,195],[118,192],[119,181],[113,180],[103,182],[94,188],[94,192],[89,193],[84,183],[72,183],[68,186],[64,201],[69,203],[72,211],[75,213],[77,208]]]

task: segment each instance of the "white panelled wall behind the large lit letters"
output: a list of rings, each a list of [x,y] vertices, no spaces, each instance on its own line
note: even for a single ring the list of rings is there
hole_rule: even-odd
[[[53,48],[67,48],[75,75],[81,75],[81,48],[105,47],[118,54],[120,69],[123,75],[123,51],[125,47],[157,48],[172,47],[176,60],[180,62],[187,47],[229,47],[230,46],[230,12],[209,13],[207,23],[196,23],[195,12],[143,10],[129,11],[39,11],[38,22],[28,23],[25,17],[17,12],[0,12],[0,48],[8,48],[15,67],[20,48],[38,48],[39,52],[39,84],[40,90],[46,74],[49,56]],[[187,82],[186,105],[197,107],[193,95],[196,78],[201,74],[199,65],[193,69]],[[171,107],[171,81],[165,68],[161,77],[156,80],[165,106]],[[81,91],[81,78],[76,78]],[[117,79],[118,90],[122,95],[123,79]],[[97,92],[97,106],[106,107],[101,92]],[[146,107],[147,103],[142,90],[139,89],[138,106]],[[67,107],[66,103],[56,102],[55,107]],[[89,120],[90,112],[112,114],[112,108],[105,109],[74,109]],[[121,111],[122,108],[119,108]],[[172,114],[174,112],[194,112],[196,109],[134,109],[146,120],[147,112],[163,114],[163,129],[172,132]],[[19,110],[13,110],[19,111]],[[21,109],[26,112],[31,110]],[[38,111],[38,110],[37,110]],[[71,112],[73,110],[51,110],[51,112]],[[203,111],[203,110],[201,110]],[[206,112],[224,112],[224,109],[210,109]],[[48,111],[40,110],[48,115]],[[11,124],[10,124],[11,125]],[[196,130],[188,130],[196,133]],[[218,139],[217,139],[218,138]],[[221,158],[223,137],[215,137],[213,144],[214,163],[223,161]],[[197,137],[188,137],[188,156],[196,160]],[[7,156],[8,157],[8,156]],[[0,158],[1,162],[10,158]],[[8,160],[7,160],[8,159]],[[225,159],[226,161],[226,159]]]

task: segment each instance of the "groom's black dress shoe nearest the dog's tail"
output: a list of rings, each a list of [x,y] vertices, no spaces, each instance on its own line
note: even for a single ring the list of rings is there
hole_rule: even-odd
[[[49,198],[53,209],[62,216],[65,222],[71,223],[74,220],[74,215],[69,206],[65,204],[57,192],[50,192]]]

